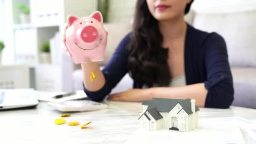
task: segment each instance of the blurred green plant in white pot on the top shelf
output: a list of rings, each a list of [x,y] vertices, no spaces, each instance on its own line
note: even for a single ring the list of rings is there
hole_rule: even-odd
[[[27,5],[22,5],[22,4],[17,4],[16,5],[17,8],[19,8],[20,11],[20,21],[21,24],[27,24],[30,22],[30,18],[29,18],[29,13],[30,13],[30,8]]]

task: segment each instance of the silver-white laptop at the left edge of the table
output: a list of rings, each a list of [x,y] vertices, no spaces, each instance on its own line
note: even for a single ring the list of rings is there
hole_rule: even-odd
[[[34,89],[0,89],[0,110],[35,107],[37,104]]]

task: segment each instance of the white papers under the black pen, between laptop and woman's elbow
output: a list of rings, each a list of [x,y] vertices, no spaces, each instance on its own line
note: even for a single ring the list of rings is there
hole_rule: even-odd
[[[74,95],[70,95],[67,97],[53,99],[53,96],[65,94],[65,92],[43,92],[37,91],[37,99],[40,101],[51,101],[51,102],[64,102],[68,100],[76,100],[76,99],[83,99],[88,97],[84,91],[76,91]]]

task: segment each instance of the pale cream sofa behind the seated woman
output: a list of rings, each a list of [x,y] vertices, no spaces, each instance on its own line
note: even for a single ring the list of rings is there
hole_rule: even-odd
[[[227,43],[229,63],[232,70],[235,99],[234,106],[256,108],[256,9],[248,11],[232,11],[223,13],[202,13],[192,10],[185,16],[187,23],[195,28],[217,32]],[[101,68],[111,58],[120,40],[131,31],[131,24],[104,24],[109,32],[106,48],[106,59],[100,62]],[[67,58],[65,61],[67,61]],[[68,61],[72,61],[69,59]],[[69,62],[70,64],[70,62]],[[72,64],[72,63],[71,63]],[[79,65],[69,66],[72,77],[73,91],[83,89],[83,75]],[[125,75],[111,93],[132,88],[133,80]]]

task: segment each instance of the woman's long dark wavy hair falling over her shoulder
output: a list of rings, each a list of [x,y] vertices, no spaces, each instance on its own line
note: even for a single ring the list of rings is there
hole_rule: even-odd
[[[185,13],[189,12],[192,2],[187,4]],[[161,48],[162,42],[157,19],[149,12],[146,0],[137,0],[131,41],[127,50],[129,74],[139,85],[167,86],[171,82],[167,63],[168,48]]]

